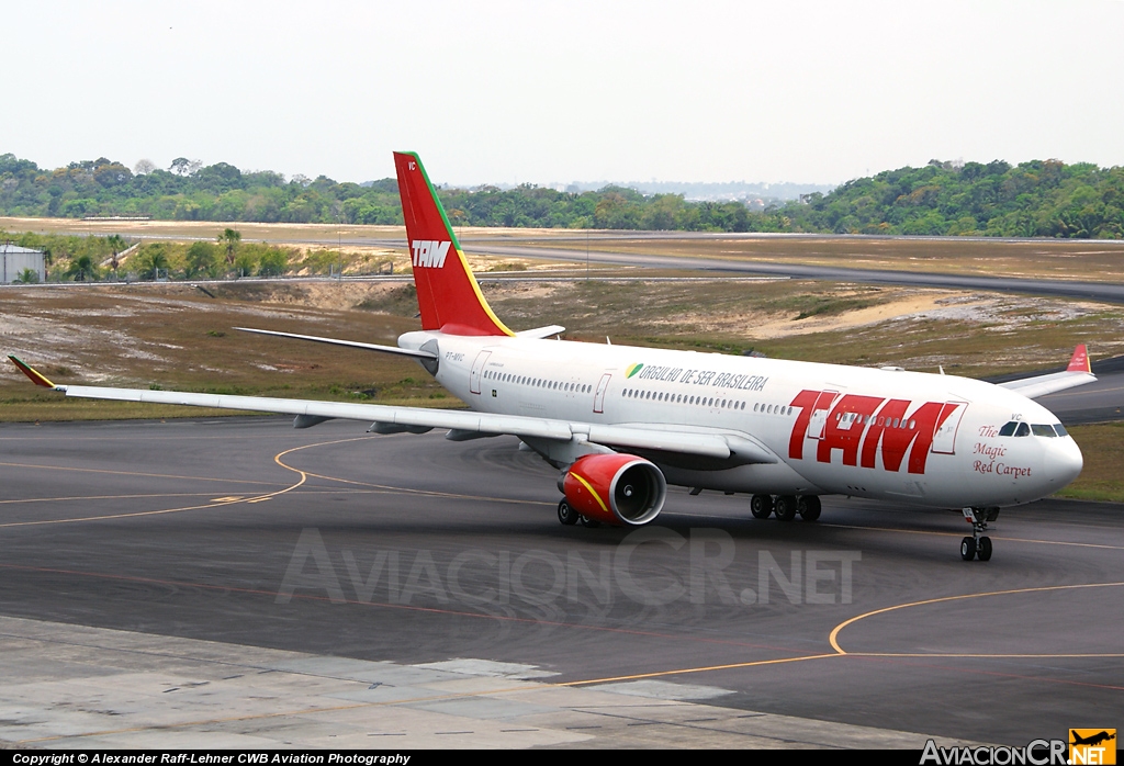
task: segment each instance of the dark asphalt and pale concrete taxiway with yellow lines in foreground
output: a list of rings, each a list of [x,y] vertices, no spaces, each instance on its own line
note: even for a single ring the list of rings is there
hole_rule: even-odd
[[[1117,505],[1006,510],[969,564],[955,513],[758,521],[673,490],[655,527],[570,528],[555,478],[510,438],[4,425],[0,740],[919,749],[1115,724]]]

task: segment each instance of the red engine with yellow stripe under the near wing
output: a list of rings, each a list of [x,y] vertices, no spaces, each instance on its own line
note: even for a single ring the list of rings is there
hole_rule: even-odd
[[[559,485],[575,511],[617,527],[646,525],[668,496],[663,473],[635,455],[579,457]]]

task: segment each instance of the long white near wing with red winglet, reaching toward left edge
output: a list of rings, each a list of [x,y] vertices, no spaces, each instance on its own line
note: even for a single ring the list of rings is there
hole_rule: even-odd
[[[347,402],[308,401],[302,399],[273,399],[268,396],[235,396],[224,394],[188,393],[181,391],[151,391],[146,389],[109,389],[90,385],[55,385],[42,373],[16,358],[9,357],[36,385],[53,389],[67,396],[80,399],[109,399],[126,402],[185,404],[252,412],[279,412],[296,416],[293,426],[303,428],[341,418],[372,423],[370,430],[380,434],[398,431],[425,432],[434,428],[448,429],[447,438],[463,440],[475,436],[533,437],[556,441],[589,441],[606,447],[651,449],[715,459],[737,456],[744,463],[776,463],[777,456],[749,434],[741,431],[696,432],[665,430],[643,426],[604,426],[554,418],[531,418],[471,410],[437,410],[419,407],[389,407],[386,404],[352,404]]]

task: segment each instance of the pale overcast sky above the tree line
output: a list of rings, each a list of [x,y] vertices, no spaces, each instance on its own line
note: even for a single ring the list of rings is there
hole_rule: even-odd
[[[4,3],[0,153],[339,181],[1124,164],[1124,2]]]

